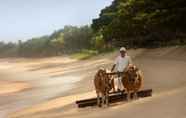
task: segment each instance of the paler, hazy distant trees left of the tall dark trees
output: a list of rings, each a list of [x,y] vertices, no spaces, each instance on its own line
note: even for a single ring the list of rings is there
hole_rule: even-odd
[[[43,57],[70,54],[93,47],[90,26],[65,26],[51,35],[17,43],[0,42],[0,56]]]

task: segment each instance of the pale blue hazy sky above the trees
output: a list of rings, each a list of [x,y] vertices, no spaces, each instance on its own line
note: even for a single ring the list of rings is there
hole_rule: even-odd
[[[113,0],[0,0],[0,40],[50,34],[64,25],[90,24]]]

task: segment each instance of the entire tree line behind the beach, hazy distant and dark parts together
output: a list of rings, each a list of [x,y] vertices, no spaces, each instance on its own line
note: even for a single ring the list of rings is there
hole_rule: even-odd
[[[0,42],[0,56],[40,57],[120,46],[185,45],[185,14],[185,0],[113,0],[91,26],[65,26],[27,41]]]

